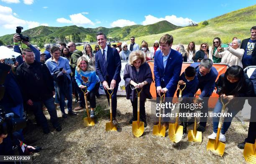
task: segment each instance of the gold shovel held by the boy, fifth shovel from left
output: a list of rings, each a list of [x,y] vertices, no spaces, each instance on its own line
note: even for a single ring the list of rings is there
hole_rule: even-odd
[[[184,88],[186,87],[186,83]],[[183,89],[180,89],[180,84],[178,83],[178,89],[179,89],[179,97],[182,97],[182,91]],[[183,126],[179,125],[179,116],[176,116],[176,120],[174,124],[169,124],[169,138],[172,142],[177,143],[180,142],[183,135]]]

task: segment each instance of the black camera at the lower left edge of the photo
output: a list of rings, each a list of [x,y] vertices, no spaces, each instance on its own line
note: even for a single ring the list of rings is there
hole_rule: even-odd
[[[13,117],[13,113],[5,114],[5,111],[0,106],[0,134],[11,134],[26,127],[25,119]]]

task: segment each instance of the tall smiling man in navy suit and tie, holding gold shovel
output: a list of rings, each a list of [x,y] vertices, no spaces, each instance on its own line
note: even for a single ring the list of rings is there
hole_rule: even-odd
[[[117,124],[118,122],[115,118],[117,107],[116,93],[118,91],[118,84],[121,81],[121,60],[118,51],[115,48],[107,46],[107,37],[105,34],[102,32],[97,33],[97,42],[100,45],[101,50],[95,54],[96,74],[100,78],[100,82],[103,84],[106,96],[108,98],[108,104],[109,95],[106,89],[113,88],[113,124]]]

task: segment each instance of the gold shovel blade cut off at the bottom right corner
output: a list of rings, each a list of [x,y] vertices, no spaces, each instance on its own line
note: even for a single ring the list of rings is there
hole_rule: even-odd
[[[243,149],[243,157],[250,164],[256,164],[256,140],[254,144],[246,143]]]

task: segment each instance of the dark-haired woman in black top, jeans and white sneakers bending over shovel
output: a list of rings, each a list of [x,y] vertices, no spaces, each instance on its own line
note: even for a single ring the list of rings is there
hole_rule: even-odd
[[[217,94],[220,95],[224,101],[229,101],[228,112],[232,116],[227,116],[224,119],[221,133],[220,142],[226,142],[225,133],[230,127],[231,121],[236,114],[243,109],[245,102],[244,97],[251,97],[254,93],[253,84],[248,76],[243,72],[240,66],[234,65],[228,68],[225,74],[220,75],[218,81],[215,84],[217,88]],[[238,98],[239,97],[239,98]],[[225,102],[226,103],[226,102]],[[214,113],[221,113],[223,107],[220,99],[215,105]],[[213,117],[213,133],[208,136],[210,139],[215,139],[217,136],[219,117]]]

